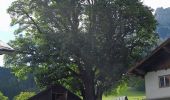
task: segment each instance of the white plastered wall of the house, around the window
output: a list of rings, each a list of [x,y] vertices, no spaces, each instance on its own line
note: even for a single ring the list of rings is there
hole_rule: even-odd
[[[145,75],[147,100],[156,100],[158,98],[170,98],[170,87],[159,88],[159,76],[169,74],[170,69],[148,72]]]

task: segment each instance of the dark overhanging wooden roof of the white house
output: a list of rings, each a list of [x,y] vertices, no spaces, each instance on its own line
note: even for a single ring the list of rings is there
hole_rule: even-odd
[[[135,74],[138,76],[144,76],[147,72],[159,70],[160,63],[170,58],[170,39],[167,39],[160,46],[158,46],[153,52],[145,59],[137,63],[132,67],[128,74]]]

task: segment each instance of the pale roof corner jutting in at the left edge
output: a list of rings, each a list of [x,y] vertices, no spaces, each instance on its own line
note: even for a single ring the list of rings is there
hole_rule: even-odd
[[[0,40],[0,55],[13,51],[14,49],[12,47]]]

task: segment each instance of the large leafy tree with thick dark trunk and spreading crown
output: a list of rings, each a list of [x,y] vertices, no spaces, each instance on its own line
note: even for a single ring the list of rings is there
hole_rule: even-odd
[[[84,100],[101,100],[157,38],[151,9],[140,0],[16,0],[8,12],[19,25],[8,66]]]

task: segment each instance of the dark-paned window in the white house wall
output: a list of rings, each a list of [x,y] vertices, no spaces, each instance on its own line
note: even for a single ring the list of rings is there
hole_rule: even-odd
[[[159,87],[170,87],[170,75],[159,76]]]

